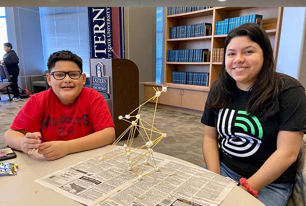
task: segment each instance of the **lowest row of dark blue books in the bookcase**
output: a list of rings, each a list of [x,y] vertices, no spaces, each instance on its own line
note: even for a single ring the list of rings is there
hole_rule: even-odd
[[[208,72],[172,71],[172,83],[208,86]]]

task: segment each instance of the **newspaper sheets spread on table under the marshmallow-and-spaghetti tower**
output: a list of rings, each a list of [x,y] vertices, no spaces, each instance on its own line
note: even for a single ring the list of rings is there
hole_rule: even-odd
[[[116,148],[110,152],[116,155],[122,151]],[[154,171],[150,158],[146,166],[139,168],[147,175],[137,180],[127,170],[125,156],[108,160],[100,157],[35,182],[87,206],[217,206],[236,185],[208,170],[157,157],[154,160],[160,171]]]

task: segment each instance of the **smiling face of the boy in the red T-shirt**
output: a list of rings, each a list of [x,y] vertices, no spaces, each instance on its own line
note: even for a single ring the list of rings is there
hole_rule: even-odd
[[[58,61],[55,63],[53,71],[81,71],[78,65],[72,61]],[[86,82],[86,74],[83,73],[79,79],[71,79],[68,74],[62,80],[57,80],[49,73],[46,75],[48,84],[52,87],[56,96],[62,104],[72,104],[76,101]]]

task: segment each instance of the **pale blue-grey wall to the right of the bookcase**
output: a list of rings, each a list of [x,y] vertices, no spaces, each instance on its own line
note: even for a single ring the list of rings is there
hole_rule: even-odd
[[[277,71],[300,80],[306,86],[306,78],[300,75],[306,65],[305,43],[306,7],[284,7],[280,45],[277,58]],[[305,56],[305,58],[303,58]]]

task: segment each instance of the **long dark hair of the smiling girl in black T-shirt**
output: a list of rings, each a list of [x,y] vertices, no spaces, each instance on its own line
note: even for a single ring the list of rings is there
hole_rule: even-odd
[[[223,64],[217,79],[209,95],[209,105],[211,109],[221,109],[229,106],[233,98],[233,92],[237,88],[235,80],[225,71],[225,53],[230,41],[239,36],[247,36],[256,42],[263,51],[264,62],[259,72],[257,80],[250,87],[250,97],[247,102],[246,111],[249,115],[261,116],[267,112],[277,98],[279,91],[279,76],[275,72],[275,62],[273,50],[266,31],[258,24],[246,23],[231,30],[225,39]]]

